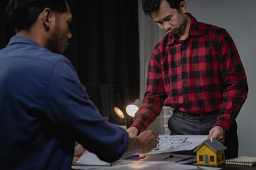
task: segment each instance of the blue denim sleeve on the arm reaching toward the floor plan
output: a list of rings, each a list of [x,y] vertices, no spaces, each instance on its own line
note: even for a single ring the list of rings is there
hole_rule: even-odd
[[[61,130],[106,162],[122,157],[129,143],[126,130],[102,118],[68,60],[54,64],[46,96],[48,117]]]

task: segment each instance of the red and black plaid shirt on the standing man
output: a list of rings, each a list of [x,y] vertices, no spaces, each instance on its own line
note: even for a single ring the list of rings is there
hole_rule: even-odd
[[[247,98],[245,70],[228,32],[188,16],[186,40],[168,33],[154,47],[145,97],[132,124],[140,132],[163,105],[191,114],[219,112],[215,125],[228,130]]]

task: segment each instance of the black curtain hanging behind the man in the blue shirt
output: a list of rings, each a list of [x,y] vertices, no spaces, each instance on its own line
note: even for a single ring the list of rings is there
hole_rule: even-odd
[[[7,0],[0,1],[0,49],[14,31],[6,24]],[[73,22],[65,56],[83,84],[124,88],[124,104],[139,98],[139,29],[137,0],[73,1]]]

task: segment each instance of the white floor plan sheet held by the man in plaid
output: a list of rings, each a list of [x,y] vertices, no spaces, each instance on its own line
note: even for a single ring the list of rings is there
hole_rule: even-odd
[[[188,151],[195,149],[207,135],[160,135],[159,145],[147,154]]]

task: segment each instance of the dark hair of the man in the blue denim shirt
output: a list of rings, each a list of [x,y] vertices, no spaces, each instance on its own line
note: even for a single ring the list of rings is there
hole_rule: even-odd
[[[65,2],[70,0],[10,0],[6,8],[7,21],[18,32],[28,30],[45,8],[58,13],[67,11]]]

